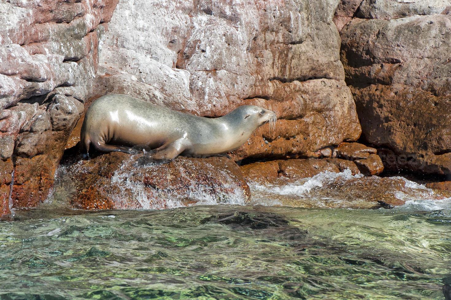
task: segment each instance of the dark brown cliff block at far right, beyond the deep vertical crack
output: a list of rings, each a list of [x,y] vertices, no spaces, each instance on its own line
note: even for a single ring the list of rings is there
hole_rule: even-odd
[[[341,30],[362,136],[388,169],[451,174],[450,5],[365,0]]]

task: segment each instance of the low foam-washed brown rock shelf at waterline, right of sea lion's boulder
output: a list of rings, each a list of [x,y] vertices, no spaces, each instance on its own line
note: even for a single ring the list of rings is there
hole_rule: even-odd
[[[305,208],[393,208],[406,201],[431,201],[451,197],[451,192],[438,191],[401,177],[352,175],[322,172],[305,179],[280,177],[271,184],[251,184],[253,204],[295,206]]]

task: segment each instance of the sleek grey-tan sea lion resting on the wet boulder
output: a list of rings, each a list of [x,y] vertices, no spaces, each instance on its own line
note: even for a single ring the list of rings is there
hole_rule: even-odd
[[[207,157],[239,148],[259,126],[276,114],[243,105],[225,116],[205,118],[173,111],[127,95],[102,96],[88,108],[80,133],[81,151],[136,153],[153,149],[150,158],[170,161],[178,155]],[[133,148],[131,148],[133,147]]]

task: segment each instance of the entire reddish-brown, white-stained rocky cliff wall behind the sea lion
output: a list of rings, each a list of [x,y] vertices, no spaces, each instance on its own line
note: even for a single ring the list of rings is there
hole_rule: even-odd
[[[2,2],[0,214],[47,197],[69,134],[108,93],[207,117],[244,104],[275,111],[275,131],[262,126],[230,153],[272,161],[274,170],[242,168],[249,174],[373,175],[377,154],[389,168],[449,174],[450,4],[425,3]],[[362,130],[377,154],[353,143]]]

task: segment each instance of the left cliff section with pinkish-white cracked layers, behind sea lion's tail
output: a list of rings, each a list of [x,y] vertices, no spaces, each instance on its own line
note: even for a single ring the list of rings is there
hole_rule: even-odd
[[[116,3],[0,3],[2,213],[9,211],[5,203],[35,206],[47,197],[66,139],[91,92],[101,36]]]

